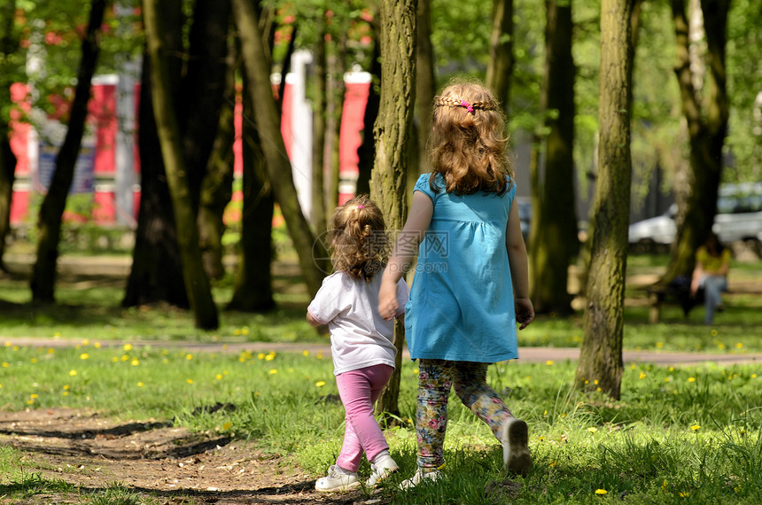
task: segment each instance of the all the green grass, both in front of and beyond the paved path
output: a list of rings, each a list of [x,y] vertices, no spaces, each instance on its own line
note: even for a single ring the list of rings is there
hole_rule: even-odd
[[[629,260],[631,275],[654,275],[664,258]],[[762,283],[762,263],[734,266],[733,275]],[[288,455],[322,475],[341,447],[344,412],[326,356],[301,353],[189,354],[169,341],[327,343],[304,321],[307,296],[294,281],[277,295],[279,308],[263,315],[222,312],[214,332],[192,328],[192,317],[167,307],[119,307],[123,284],[61,285],[62,305],[29,303],[23,280],[0,285],[0,405],[88,408],[121,419],[155,418]],[[762,284],[760,284],[762,285]],[[640,298],[639,298],[640,297]],[[644,294],[628,286],[625,349],[716,354],[762,353],[762,297],[733,293],[717,324],[702,324],[699,307],[684,320],[665,307],[649,324]],[[229,282],[215,286],[221,307]],[[579,346],[582,315],[540,317],[519,333],[520,346]],[[57,337],[73,347],[5,344],[4,338]],[[127,346],[109,346],[112,340]],[[159,341],[138,346],[144,341]],[[431,486],[392,489],[415,470],[416,368],[405,361],[399,426],[386,431],[401,471],[382,495],[395,503],[759,503],[762,502],[762,384],[758,364],[665,368],[639,363],[622,377],[621,400],[571,387],[569,362],[499,363],[489,381],[509,408],[530,425],[533,471],[517,486],[485,487],[501,478],[502,453],[486,426],[453,396],[447,431],[447,468]],[[119,394],[114,394],[119,392]],[[209,407],[225,404],[230,408]],[[213,412],[214,410],[214,412]],[[294,420],[299,420],[295,423]],[[0,449],[0,495],[83,493],[19,468],[19,455]],[[362,472],[369,472],[367,462]],[[61,487],[64,486],[64,487]],[[47,490],[47,491],[46,491]],[[605,493],[603,493],[605,491]],[[597,492],[597,493],[596,493]],[[145,503],[113,483],[88,493],[93,503]]]

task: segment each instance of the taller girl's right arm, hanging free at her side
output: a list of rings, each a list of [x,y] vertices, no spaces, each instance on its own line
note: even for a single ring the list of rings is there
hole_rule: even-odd
[[[519,330],[524,330],[534,321],[534,307],[529,299],[529,267],[526,260],[526,245],[521,235],[521,221],[518,219],[516,198],[510,204],[508,225],[505,230],[505,248],[508,251],[510,277],[513,280],[513,298],[516,305],[516,320]]]

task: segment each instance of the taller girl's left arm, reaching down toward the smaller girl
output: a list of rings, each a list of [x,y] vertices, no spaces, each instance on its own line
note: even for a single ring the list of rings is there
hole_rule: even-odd
[[[408,271],[418,252],[418,245],[424,239],[432,222],[434,203],[423,191],[413,193],[408,221],[394,243],[394,250],[386,263],[381,288],[378,291],[378,312],[384,319],[392,319],[399,308],[397,304],[397,282]]]

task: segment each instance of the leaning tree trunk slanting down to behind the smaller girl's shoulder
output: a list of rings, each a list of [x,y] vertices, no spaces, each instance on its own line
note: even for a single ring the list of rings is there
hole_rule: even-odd
[[[259,128],[262,151],[267,160],[268,178],[288,227],[294,248],[299,254],[299,266],[310,296],[315,296],[326,271],[323,244],[316,241],[307,220],[299,208],[292,167],[285,156],[280,133],[280,120],[270,87],[270,72],[260,34],[259,19],[253,5],[246,0],[233,0],[236,25],[241,36],[246,74],[251,82],[250,93],[254,120]]]

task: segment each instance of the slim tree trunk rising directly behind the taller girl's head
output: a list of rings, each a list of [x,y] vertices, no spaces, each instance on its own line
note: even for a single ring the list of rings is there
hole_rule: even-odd
[[[571,2],[569,8],[571,9]],[[569,52],[571,54],[571,47]],[[506,116],[509,110],[513,62],[513,0],[493,0],[486,85],[493,89]]]

